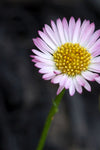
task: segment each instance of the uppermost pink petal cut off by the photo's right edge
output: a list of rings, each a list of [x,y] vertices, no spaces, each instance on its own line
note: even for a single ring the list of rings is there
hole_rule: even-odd
[[[86,45],[87,49],[91,48],[93,46],[93,44],[95,44],[95,42],[99,38],[99,36],[100,36],[100,30],[97,30],[96,32],[94,32],[94,34],[91,36],[88,44]]]

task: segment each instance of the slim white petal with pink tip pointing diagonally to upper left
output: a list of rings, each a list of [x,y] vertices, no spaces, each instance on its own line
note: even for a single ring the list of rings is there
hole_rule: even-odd
[[[38,33],[49,47],[51,47],[53,50],[57,48],[56,45],[50,40],[50,38],[45,33],[43,33],[42,31],[38,31]]]

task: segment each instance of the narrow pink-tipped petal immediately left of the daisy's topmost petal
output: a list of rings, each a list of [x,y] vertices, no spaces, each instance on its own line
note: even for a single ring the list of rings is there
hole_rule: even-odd
[[[66,18],[63,18],[62,24],[63,24],[63,30],[64,30],[64,35],[65,35],[66,42],[69,42],[68,22],[67,22]]]

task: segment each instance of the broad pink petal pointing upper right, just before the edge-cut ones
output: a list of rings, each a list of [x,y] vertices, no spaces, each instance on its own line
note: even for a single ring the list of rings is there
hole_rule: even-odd
[[[82,38],[81,38],[81,41],[80,41],[80,44],[82,46],[86,46],[87,42],[89,41],[91,35],[93,34],[94,32],[94,29],[95,29],[95,25],[94,23],[91,23],[88,28],[86,29],[86,31],[84,32]]]

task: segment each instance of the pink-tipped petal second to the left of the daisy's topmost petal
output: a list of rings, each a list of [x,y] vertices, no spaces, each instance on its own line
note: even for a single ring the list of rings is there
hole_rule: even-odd
[[[57,28],[58,28],[58,33],[59,33],[61,43],[62,44],[66,43],[64,31],[63,31],[63,25],[60,19],[57,19]]]

